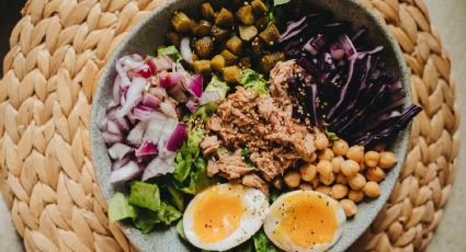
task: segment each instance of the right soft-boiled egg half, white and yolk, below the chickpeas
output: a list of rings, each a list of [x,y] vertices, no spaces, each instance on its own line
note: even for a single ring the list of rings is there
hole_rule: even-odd
[[[331,197],[315,191],[294,191],[272,204],[264,231],[284,251],[326,251],[340,238],[345,220],[343,208]]]

